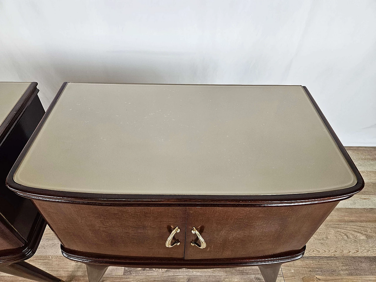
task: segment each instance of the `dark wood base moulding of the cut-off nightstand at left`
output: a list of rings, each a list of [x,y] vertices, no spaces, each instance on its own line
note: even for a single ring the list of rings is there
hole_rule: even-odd
[[[27,238],[28,243],[20,248],[10,249],[7,252],[0,252],[0,264],[9,264],[31,258],[39,246],[46,225],[47,223],[39,214],[32,227],[32,230],[34,231],[31,232]]]

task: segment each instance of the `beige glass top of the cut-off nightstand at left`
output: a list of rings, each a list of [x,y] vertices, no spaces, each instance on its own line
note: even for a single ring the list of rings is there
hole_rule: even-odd
[[[0,124],[20,100],[31,82],[0,82]]]

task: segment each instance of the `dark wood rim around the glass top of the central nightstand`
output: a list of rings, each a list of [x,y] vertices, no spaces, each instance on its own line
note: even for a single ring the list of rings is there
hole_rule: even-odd
[[[51,105],[47,109],[41,122],[36,127],[35,132],[31,136],[30,140],[27,142],[21,155],[18,157],[14,166],[8,174],[6,179],[6,185],[12,191],[17,194],[35,200],[47,200],[53,202],[68,202],[77,203],[85,205],[118,205],[118,206],[128,206],[128,205],[139,205],[139,206],[151,206],[151,205],[164,205],[164,204],[176,204],[176,205],[200,205],[200,206],[229,206],[229,205],[250,205],[250,206],[285,206],[285,205],[307,205],[315,203],[324,202],[335,202],[339,200],[347,199],[353,194],[358,193],[364,187],[364,181],[355,167],[352,159],[347,154],[346,150],[339,141],[337,135],[335,135],[332,127],[327,122],[323,113],[318,108],[316,102],[313,100],[311,94],[305,86],[303,89],[307,93],[309,99],[311,99],[312,104],[315,106],[318,114],[323,120],[324,124],[328,128],[329,132],[333,136],[335,142],[349,162],[350,167],[354,171],[358,183],[356,185],[338,189],[334,191],[326,192],[316,192],[316,193],[305,193],[305,194],[285,194],[285,195],[259,195],[259,196],[224,196],[224,195],[130,195],[130,194],[95,194],[95,193],[76,193],[76,192],[66,192],[66,191],[53,191],[46,189],[39,189],[33,187],[27,187],[16,183],[13,179],[14,173],[17,170],[18,165],[20,165],[24,155],[44,124],[46,118],[52,111],[57,100],[59,99],[61,93],[63,92],[67,82],[64,82],[59,92],[56,94]]]

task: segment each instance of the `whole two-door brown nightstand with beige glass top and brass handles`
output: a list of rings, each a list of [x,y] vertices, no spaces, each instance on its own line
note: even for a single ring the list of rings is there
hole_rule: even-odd
[[[364,182],[302,86],[64,83],[9,173],[63,255],[108,265],[299,259]]]

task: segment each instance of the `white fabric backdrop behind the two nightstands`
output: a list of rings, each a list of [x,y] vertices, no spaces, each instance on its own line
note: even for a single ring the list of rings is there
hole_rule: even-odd
[[[376,2],[2,0],[0,81],[306,85],[376,146]]]

